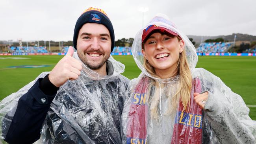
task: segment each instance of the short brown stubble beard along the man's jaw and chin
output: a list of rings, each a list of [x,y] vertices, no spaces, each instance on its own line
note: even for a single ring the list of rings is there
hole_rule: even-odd
[[[87,58],[85,57],[85,52],[80,52],[80,51],[77,51],[77,54],[78,54],[78,57],[81,59],[81,61],[86,65],[88,66],[89,68],[91,68],[91,70],[97,70],[99,68],[101,68],[102,65],[104,65],[104,63],[106,63],[106,61],[108,60],[108,58],[110,57],[109,56],[106,56],[104,54],[104,57],[102,59],[102,61],[100,61],[100,63],[95,63],[94,61],[92,62],[89,62],[87,60]]]

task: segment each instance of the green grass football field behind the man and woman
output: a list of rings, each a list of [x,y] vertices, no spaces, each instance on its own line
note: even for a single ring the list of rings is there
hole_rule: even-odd
[[[41,72],[52,70],[61,57],[63,56],[0,56],[0,100],[34,80]],[[141,71],[131,55],[114,55],[113,57],[126,66],[124,76],[129,79],[139,76]],[[28,65],[35,65],[34,67],[45,65],[45,67],[27,68]],[[247,105],[256,105],[256,57],[200,56],[197,67],[205,68],[221,78],[232,91],[243,98]],[[250,117],[256,120],[256,107],[249,108]]]

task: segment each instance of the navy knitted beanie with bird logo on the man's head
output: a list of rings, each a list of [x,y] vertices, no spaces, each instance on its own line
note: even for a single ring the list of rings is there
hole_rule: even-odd
[[[107,14],[102,9],[97,9],[93,7],[86,9],[76,21],[74,37],[73,37],[74,48],[76,49],[79,30],[87,22],[103,24],[104,26],[106,26],[111,37],[111,52],[112,52],[115,45],[115,33],[114,33],[112,23],[109,20]]]

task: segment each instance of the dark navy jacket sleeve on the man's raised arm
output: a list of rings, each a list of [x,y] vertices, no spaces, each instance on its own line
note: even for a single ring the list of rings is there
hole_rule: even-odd
[[[48,77],[48,76],[47,76]],[[39,88],[38,79],[33,87],[24,94],[18,102],[17,110],[4,139],[9,144],[28,144],[40,138],[40,130],[43,126],[50,103],[56,92],[48,96]],[[5,126],[8,125],[8,122]],[[4,130],[4,128],[2,128]]]

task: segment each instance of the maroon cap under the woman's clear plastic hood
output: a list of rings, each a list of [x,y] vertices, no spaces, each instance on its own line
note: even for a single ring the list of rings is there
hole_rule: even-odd
[[[143,43],[145,41],[145,39],[148,37],[148,35],[150,35],[151,32],[155,31],[155,30],[160,30],[162,32],[170,33],[171,35],[177,36],[181,39],[181,37],[177,33],[173,32],[171,30],[168,30],[167,28],[163,28],[163,27],[156,26],[156,25],[150,25],[146,29],[143,30],[142,37],[141,37],[142,38],[141,43]]]

